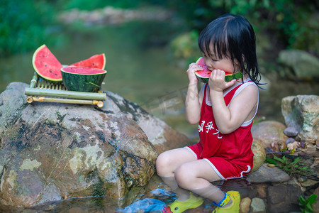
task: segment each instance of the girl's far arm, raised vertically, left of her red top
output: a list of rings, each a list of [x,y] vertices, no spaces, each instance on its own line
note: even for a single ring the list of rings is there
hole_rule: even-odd
[[[186,100],[185,100],[185,111],[186,120],[189,124],[197,124],[201,116],[201,101],[203,96],[201,92],[198,94],[198,80],[194,74],[197,70],[203,70],[202,67],[191,63],[187,70],[189,77],[189,86],[187,88]]]

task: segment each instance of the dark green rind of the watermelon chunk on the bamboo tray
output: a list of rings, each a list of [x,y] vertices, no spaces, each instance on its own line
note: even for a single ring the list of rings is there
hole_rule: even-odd
[[[63,84],[67,90],[77,92],[98,92],[107,73],[106,70],[103,70],[105,72],[97,74],[78,74],[67,72],[65,68],[67,67],[61,68]]]

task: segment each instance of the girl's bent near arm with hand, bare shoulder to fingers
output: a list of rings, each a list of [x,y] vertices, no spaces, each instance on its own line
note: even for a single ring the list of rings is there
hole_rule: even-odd
[[[225,72],[213,70],[209,80],[209,92],[218,130],[220,133],[226,134],[235,131],[242,123],[252,119],[257,107],[258,91],[254,85],[245,87],[227,107],[223,97],[223,90],[233,86],[236,80],[225,82],[224,79]]]

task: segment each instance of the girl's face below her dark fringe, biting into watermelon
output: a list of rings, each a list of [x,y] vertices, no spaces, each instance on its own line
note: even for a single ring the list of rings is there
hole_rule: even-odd
[[[223,70],[226,74],[235,72],[233,61],[230,58],[218,58],[217,55],[211,53],[210,55],[203,54],[203,60],[208,70]]]

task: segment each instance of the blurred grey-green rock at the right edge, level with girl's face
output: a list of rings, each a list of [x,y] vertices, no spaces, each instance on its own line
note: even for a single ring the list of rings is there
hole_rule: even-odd
[[[302,80],[319,78],[319,59],[303,50],[281,50],[279,61]]]

